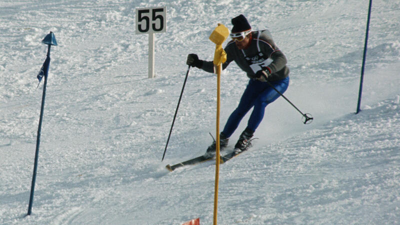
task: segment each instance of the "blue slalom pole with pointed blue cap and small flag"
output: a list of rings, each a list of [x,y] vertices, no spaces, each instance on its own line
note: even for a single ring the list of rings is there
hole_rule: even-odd
[[[47,85],[47,74],[48,74],[48,67],[50,65],[50,47],[51,45],[57,45],[55,41],[54,34],[50,31],[44,39],[41,41],[42,43],[48,44],[47,47],[47,56],[46,60],[43,63],[42,68],[40,69],[37,78],[39,79],[39,83],[41,78],[44,76],[44,84],[43,84],[43,94],[41,97],[41,107],[40,107],[40,117],[39,117],[39,126],[37,128],[37,138],[36,138],[36,151],[34,155],[34,166],[33,166],[33,175],[32,175],[32,185],[30,186],[30,196],[29,196],[29,206],[28,206],[28,213],[30,215],[32,212],[32,203],[33,203],[33,193],[34,193],[34,184],[36,182],[36,171],[37,171],[37,160],[39,157],[39,144],[40,144],[40,133],[41,133],[41,123],[43,120],[43,111],[44,111],[44,99],[46,97],[46,85]]]

